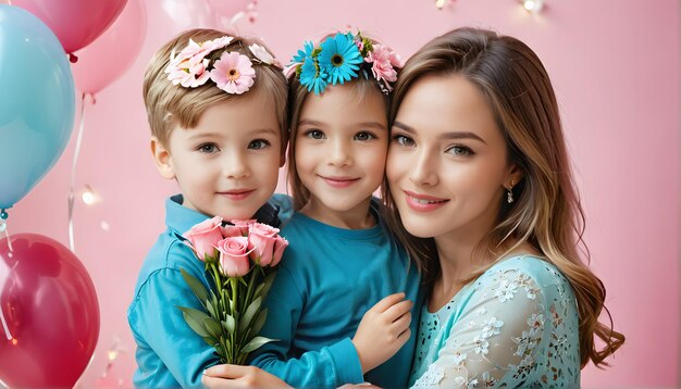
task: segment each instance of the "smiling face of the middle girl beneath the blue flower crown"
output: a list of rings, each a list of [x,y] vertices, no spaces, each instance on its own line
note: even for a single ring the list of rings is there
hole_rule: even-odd
[[[388,131],[385,102],[370,88],[358,99],[352,84],[310,93],[296,128],[296,170],[310,191],[309,214],[326,221],[367,212],[385,171]]]

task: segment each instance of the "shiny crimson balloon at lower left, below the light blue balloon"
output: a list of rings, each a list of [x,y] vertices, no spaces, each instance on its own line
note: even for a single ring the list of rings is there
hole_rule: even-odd
[[[99,304],[78,259],[37,234],[0,240],[0,379],[73,387],[95,351]]]

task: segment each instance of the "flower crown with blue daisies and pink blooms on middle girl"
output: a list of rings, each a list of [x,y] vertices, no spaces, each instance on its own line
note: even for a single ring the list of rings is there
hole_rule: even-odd
[[[359,77],[358,71],[369,78],[367,67],[371,68],[381,90],[387,95],[393,90],[391,83],[397,80],[395,67],[401,67],[401,62],[387,46],[373,43],[359,33],[338,33],[318,47],[306,41],[284,74],[289,77],[295,71],[300,84],[308,87],[308,91],[314,90],[319,95],[329,84],[344,84]]]

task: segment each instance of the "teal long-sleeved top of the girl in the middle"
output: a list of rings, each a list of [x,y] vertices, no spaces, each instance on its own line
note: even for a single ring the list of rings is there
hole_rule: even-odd
[[[295,213],[282,226],[289,241],[265,305],[261,335],[280,339],[255,351],[251,364],[289,385],[335,388],[363,380],[406,387],[414,352],[420,277],[404,249],[379,224],[336,228]],[[364,313],[384,297],[404,291],[414,302],[409,341],[362,377],[351,342]]]

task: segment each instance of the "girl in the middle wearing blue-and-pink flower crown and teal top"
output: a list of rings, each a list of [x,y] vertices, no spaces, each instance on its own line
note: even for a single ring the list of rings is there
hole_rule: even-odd
[[[261,331],[278,341],[251,361],[294,387],[407,384],[419,276],[372,199],[396,66],[387,47],[350,33],[306,42],[294,58],[288,175],[297,212],[282,228],[289,246]]]

